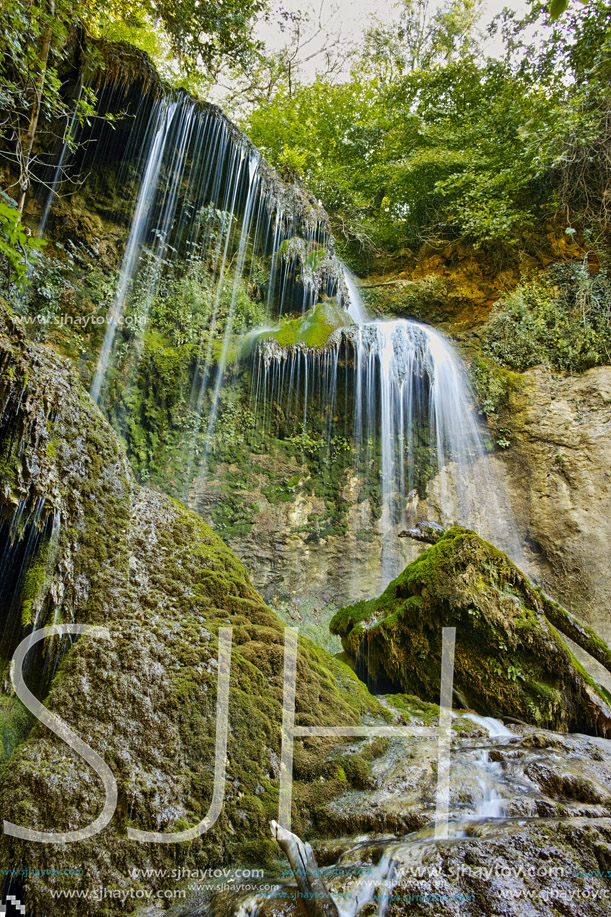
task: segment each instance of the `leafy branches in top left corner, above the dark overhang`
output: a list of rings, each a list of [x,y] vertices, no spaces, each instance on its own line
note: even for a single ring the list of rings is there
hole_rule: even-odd
[[[23,285],[27,255],[38,247],[21,217],[30,190],[67,177],[58,174],[58,149],[74,150],[79,127],[96,117],[96,94],[83,81],[84,56],[89,72],[100,61],[83,27],[113,39],[137,36],[149,50],[171,53],[178,72],[188,74],[252,53],[254,20],[265,6],[266,0],[3,0],[0,262],[14,282]]]

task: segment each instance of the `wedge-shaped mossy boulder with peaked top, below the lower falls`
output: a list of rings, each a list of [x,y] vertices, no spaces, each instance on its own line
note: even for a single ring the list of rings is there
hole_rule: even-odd
[[[506,554],[454,527],[379,598],[342,608],[331,630],[374,691],[435,701],[442,628],[456,627],[454,686],[469,706],[549,729],[611,736],[604,689],[550,623],[563,618],[578,636],[575,619],[560,615]],[[602,641],[588,637],[603,661],[610,658]]]

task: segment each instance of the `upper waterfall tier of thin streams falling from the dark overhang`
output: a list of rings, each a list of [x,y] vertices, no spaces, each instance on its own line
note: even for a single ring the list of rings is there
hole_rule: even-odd
[[[101,92],[102,114],[122,104],[125,99],[116,88]],[[82,150],[74,154],[76,164],[64,144],[41,231],[62,176],[95,170],[104,158],[117,156],[118,180],[127,188],[135,173],[135,204],[114,298],[104,320],[91,394],[104,408],[109,371],[119,355],[126,367],[124,381],[133,379],[151,306],[164,280],[205,265],[210,294],[190,412],[194,427],[203,425],[208,439],[234,335],[236,302],[253,284],[257,259],[267,265],[259,299],[274,319],[284,312],[307,311],[320,295],[335,295],[343,275],[322,207],[304,190],[283,183],[217,108],[178,92],[141,98],[130,114],[131,118],[118,122],[121,150],[110,136],[117,128],[104,123],[95,135],[85,137],[81,129],[75,146]],[[200,458],[190,460],[197,465]]]

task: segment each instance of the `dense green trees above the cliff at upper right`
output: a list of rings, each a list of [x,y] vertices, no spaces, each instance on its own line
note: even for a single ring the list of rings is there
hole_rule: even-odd
[[[523,21],[506,11],[503,60],[483,54],[467,0],[420,25],[423,4],[403,5],[402,28],[372,31],[347,82],[284,87],[248,118],[357,266],[430,239],[515,249],[558,214],[569,233],[604,231],[611,5],[577,4],[555,26],[536,4]]]

